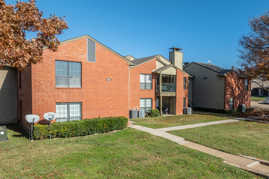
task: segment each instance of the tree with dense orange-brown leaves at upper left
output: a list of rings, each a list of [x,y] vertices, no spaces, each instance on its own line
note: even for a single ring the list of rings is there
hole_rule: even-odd
[[[65,16],[54,14],[43,18],[43,11],[39,11],[35,2],[17,1],[8,5],[0,0],[0,69],[11,65],[23,71],[28,64],[42,62],[44,46],[57,51],[60,42],[56,35],[68,29]],[[33,34],[31,39],[26,39],[28,32]]]

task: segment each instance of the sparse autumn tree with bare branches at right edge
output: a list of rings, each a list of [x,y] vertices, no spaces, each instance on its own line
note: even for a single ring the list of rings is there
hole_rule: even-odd
[[[250,32],[238,39],[240,55],[237,70],[249,79],[269,81],[269,11],[249,18],[249,26]]]

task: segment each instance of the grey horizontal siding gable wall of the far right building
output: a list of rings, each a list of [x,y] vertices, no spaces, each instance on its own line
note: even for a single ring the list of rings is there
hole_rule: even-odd
[[[195,63],[188,65],[184,71],[195,76],[195,107],[224,108],[224,76],[217,76],[217,72]]]

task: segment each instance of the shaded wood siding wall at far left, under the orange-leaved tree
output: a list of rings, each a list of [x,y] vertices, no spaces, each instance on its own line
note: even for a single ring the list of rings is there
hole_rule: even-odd
[[[17,69],[0,70],[0,125],[17,122]]]

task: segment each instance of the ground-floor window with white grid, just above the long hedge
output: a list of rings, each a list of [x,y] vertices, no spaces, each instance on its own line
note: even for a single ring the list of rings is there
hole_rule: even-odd
[[[56,122],[82,119],[81,103],[56,103]]]

